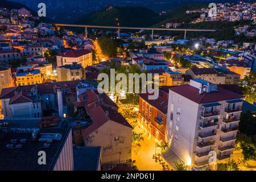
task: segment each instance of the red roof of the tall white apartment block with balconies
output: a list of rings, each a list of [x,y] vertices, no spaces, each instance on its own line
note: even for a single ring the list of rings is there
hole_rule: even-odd
[[[231,92],[220,86],[217,86],[217,88],[218,88],[218,91],[216,92],[210,92],[210,93],[204,92],[203,94],[199,93],[199,89],[194,88],[193,86],[187,85],[187,84],[175,86],[173,88],[170,88],[170,90],[198,104],[232,100],[235,98],[243,98],[241,94]]]

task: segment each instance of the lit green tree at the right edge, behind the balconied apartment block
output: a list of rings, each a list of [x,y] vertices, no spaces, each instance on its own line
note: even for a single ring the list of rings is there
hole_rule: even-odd
[[[238,85],[242,87],[245,100],[253,104],[256,101],[256,71],[246,75]]]

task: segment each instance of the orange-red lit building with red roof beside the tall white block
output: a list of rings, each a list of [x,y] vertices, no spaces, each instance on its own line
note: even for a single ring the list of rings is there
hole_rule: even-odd
[[[148,100],[148,93],[139,94],[139,125],[148,134],[158,141],[166,140],[166,120],[168,106],[168,88],[159,90],[156,100]],[[167,90],[167,92],[165,91]]]

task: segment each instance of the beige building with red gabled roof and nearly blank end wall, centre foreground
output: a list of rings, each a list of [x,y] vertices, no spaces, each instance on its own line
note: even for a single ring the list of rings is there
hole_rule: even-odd
[[[118,106],[105,94],[87,90],[74,102],[86,126],[81,130],[85,146],[102,148],[102,165],[131,160],[133,127],[117,112]]]

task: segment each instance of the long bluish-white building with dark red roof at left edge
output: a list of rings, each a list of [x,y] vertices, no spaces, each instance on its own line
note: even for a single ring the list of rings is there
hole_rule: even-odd
[[[59,81],[2,89],[2,113],[8,118],[41,118],[73,115],[77,95],[94,86],[85,80]]]

